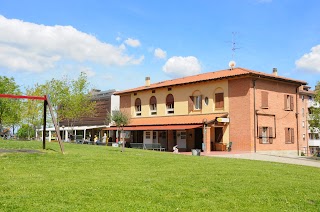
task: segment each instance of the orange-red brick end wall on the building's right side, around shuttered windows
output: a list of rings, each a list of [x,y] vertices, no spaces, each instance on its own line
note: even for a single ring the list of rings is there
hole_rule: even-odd
[[[260,114],[257,115],[257,127],[273,127],[275,136],[272,144],[260,144],[257,138],[257,151],[297,150],[296,88],[296,85],[285,82],[256,80],[256,110]],[[262,107],[262,92],[268,92],[268,108]],[[293,96],[292,111],[285,110],[285,95]],[[285,128],[294,129],[294,143],[285,143]]]

